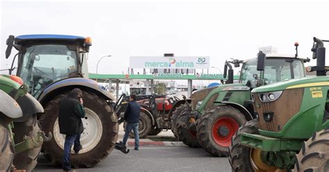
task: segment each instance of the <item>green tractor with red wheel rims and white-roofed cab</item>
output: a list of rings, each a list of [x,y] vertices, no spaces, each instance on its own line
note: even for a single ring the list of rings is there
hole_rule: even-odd
[[[297,44],[295,45],[297,49]],[[260,54],[259,54],[260,55]],[[192,94],[192,111],[183,110],[178,117],[178,138],[192,147],[202,147],[216,156],[228,156],[228,147],[235,132],[246,121],[256,118],[251,90],[291,78],[305,77],[304,62],[296,55],[267,55],[264,71],[256,69],[258,60],[233,60],[242,63],[239,83],[201,89]],[[224,69],[233,70],[228,62]],[[233,74],[233,71],[229,71]],[[228,75],[230,76],[230,74]],[[229,79],[232,83],[232,79]],[[262,82],[258,82],[262,80]]]

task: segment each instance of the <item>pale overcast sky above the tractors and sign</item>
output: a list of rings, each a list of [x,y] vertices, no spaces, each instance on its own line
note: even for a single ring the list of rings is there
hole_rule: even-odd
[[[92,37],[90,72],[112,55],[99,74],[126,72],[130,56],[163,53],[210,56],[222,70],[228,58],[254,58],[260,46],[294,54],[294,42],[311,57],[312,37],[329,40],[328,11],[326,1],[1,1],[0,69],[15,54],[4,58],[8,35],[45,33]]]

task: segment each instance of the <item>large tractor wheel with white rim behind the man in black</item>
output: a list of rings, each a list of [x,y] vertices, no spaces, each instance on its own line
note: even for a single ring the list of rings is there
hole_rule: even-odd
[[[60,134],[58,126],[59,101],[68,93],[49,101],[40,117],[42,130],[53,134],[51,140],[43,144],[44,156],[59,166],[62,165],[65,143],[65,135]],[[119,132],[117,115],[104,98],[93,92],[83,91],[83,102],[85,119],[82,119],[84,131],[80,139],[83,148],[78,154],[71,153],[71,165],[74,168],[91,167],[101,162],[115,148]]]

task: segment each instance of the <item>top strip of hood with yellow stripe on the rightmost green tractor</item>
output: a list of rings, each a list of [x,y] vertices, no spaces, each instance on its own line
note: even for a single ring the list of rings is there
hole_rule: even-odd
[[[328,76],[308,77],[301,79],[285,80],[271,85],[264,85],[253,89],[251,92],[276,92],[283,89],[293,89],[301,87],[317,87],[329,85]]]

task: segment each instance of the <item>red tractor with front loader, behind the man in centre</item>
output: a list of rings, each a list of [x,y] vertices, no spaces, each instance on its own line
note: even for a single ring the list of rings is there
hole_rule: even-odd
[[[126,110],[128,105],[129,96],[122,94],[115,104],[115,112],[121,114]],[[141,106],[140,112],[140,126],[138,128],[140,132],[140,138],[144,138],[147,135],[158,135],[162,130],[171,129],[170,114],[172,114],[172,107],[180,99],[174,96],[174,98],[167,98],[165,95],[138,95],[137,103]],[[120,117],[123,117],[121,115]],[[119,120],[119,121],[122,121]],[[130,134],[133,137],[133,134]]]

